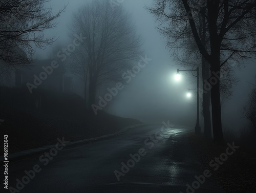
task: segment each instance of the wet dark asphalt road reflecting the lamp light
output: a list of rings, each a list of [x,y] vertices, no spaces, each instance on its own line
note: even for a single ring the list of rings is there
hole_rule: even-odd
[[[202,184],[194,182],[205,168],[189,147],[186,134],[191,130],[168,128],[157,140],[153,136],[161,126],[142,126],[105,141],[66,147],[51,152],[57,154],[54,157],[42,154],[9,163],[8,186],[13,189],[2,184],[0,192],[192,193],[186,184],[194,185],[195,192],[223,192],[211,177]]]

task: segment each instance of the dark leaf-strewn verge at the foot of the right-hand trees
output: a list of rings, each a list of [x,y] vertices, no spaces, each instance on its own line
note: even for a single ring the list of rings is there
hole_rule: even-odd
[[[256,192],[256,151],[240,146],[236,152],[219,165],[217,170],[209,166],[215,157],[226,152],[228,145],[217,145],[203,136],[189,134],[189,142],[200,161],[211,171],[212,177],[227,193]],[[234,141],[235,145],[236,141]]]

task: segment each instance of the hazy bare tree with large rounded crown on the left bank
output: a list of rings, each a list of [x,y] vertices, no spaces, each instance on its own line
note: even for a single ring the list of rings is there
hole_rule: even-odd
[[[73,33],[86,39],[69,62],[70,71],[84,81],[88,105],[94,104],[99,85],[122,81],[121,72],[139,59],[140,37],[130,16],[108,1],[93,1],[74,14]]]

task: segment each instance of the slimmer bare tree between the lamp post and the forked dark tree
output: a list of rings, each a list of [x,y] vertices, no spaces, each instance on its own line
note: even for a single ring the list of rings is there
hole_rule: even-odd
[[[184,8],[181,1],[176,2],[174,7],[176,7],[174,13],[168,13],[168,6],[165,5],[166,2],[156,1],[154,8],[146,7],[151,13],[153,13],[157,19],[160,21],[158,30],[160,33],[165,35],[168,39],[167,46],[173,51],[173,56],[176,62],[184,67],[189,67],[194,69],[199,66],[201,69],[200,80],[200,97],[202,99],[202,115],[204,118],[204,135],[205,137],[211,137],[211,118],[210,118],[210,91],[205,87],[205,82],[208,81],[210,77],[209,62],[201,55],[197,49],[197,44],[195,42],[191,28],[189,27],[189,22],[187,20],[187,15],[184,14]],[[207,29],[207,20],[205,17],[205,4],[197,4],[198,1],[192,1],[194,3],[193,11],[197,13],[196,27],[202,44],[205,49],[209,51],[209,36]],[[201,14],[203,13],[203,14]],[[169,21],[171,19],[171,21]],[[170,22],[168,24],[168,22]],[[225,66],[227,69],[228,67]],[[221,95],[223,100],[228,99],[232,93],[232,85],[236,84],[237,81],[231,76],[231,69],[226,71],[221,78]]]

